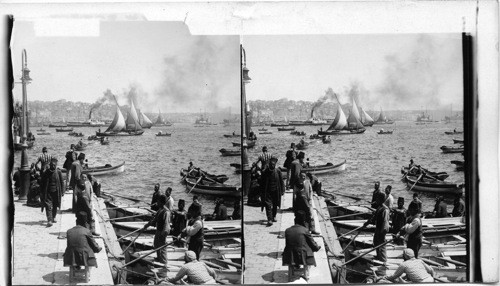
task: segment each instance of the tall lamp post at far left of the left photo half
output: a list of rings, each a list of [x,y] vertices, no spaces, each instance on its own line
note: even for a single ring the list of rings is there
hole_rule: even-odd
[[[21,189],[19,190],[19,201],[26,201],[28,199],[28,191],[30,188],[30,167],[28,162],[28,153],[26,149],[28,148],[27,140],[27,130],[28,130],[28,95],[26,92],[26,85],[31,81],[30,78],[30,70],[27,67],[28,58],[26,56],[26,50],[23,49],[22,55],[22,76],[21,81],[23,84],[23,135],[22,135],[22,151],[21,151],[21,168],[20,171],[20,179],[21,179]]]

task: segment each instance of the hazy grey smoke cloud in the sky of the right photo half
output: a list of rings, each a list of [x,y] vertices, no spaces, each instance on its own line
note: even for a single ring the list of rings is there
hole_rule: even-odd
[[[457,38],[420,35],[413,50],[385,57],[385,78],[368,103],[383,109],[436,108],[451,103],[447,93],[461,88],[460,53]],[[456,94],[451,96],[456,98]]]

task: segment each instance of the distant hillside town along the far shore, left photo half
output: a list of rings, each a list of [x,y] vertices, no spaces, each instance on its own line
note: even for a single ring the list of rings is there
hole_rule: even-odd
[[[14,102],[14,107],[19,106],[19,102]],[[42,126],[58,122],[86,121],[96,119],[104,122],[111,122],[115,114],[116,105],[102,104],[94,108],[93,103],[72,102],[64,99],[57,101],[28,101],[28,114],[31,126]],[[123,114],[127,114],[130,106],[120,106]],[[140,110],[140,109],[138,109]],[[213,123],[239,123],[240,115],[231,114],[230,109],[224,109],[218,113],[167,113],[162,112],[162,117],[171,123],[194,123],[200,117],[208,118]],[[145,114],[153,120],[158,117],[158,112]]]

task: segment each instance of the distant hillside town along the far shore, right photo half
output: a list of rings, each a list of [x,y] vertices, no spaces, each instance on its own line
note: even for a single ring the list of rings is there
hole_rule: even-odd
[[[337,104],[333,102],[325,102],[317,106],[317,102],[313,101],[295,101],[282,98],[279,100],[251,100],[248,106],[252,112],[252,120],[258,122],[273,122],[286,120],[307,120],[312,117],[322,119],[333,119],[337,110]],[[342,105],[342,110],[349,114],[351,104]],[[313,112],[314,107],[314,114]],[[374,119],[378,118],[380,109],[374,107],[366,107],[363,109]],[[385,115],[396,121],[416,121],[419,116],[426,114],[434,121],[445,120],[461,120],[463,119],[463,111],[453,111],[451,106],[443,107],[437,110],[426,110],[425,107],[420,110],[385,110],[383,106],[375,107],[382,108]]]

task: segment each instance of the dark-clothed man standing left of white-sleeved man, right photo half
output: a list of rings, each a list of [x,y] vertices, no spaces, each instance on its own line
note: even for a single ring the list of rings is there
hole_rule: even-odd
[[[363,227],[369,224],[375,225],[375,234],[373,235],[373,246],[379,246],[385,243],[385,235],[389,232],[389,208],[384,204],[385,194],[378,193],[375,196],[375,203],[378,206],[373,216],[364,223]],[[385,245],[377,248],[377,259],[386,262],[387,253]]]

